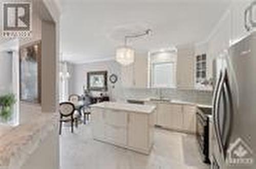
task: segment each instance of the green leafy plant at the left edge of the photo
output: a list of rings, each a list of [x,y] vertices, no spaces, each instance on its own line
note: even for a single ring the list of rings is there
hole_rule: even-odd
[[[14,94],[0,96],[0,119],[8,121],[11,119],[13,111],[12,107],[16,103]]]

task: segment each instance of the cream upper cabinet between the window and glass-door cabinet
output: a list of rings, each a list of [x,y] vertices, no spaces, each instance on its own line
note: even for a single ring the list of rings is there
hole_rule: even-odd
[[[195,46],[177,46],[177,88],[194,89]]]

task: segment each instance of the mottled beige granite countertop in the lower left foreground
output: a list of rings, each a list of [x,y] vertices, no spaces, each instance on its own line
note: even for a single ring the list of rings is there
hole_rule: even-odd
[[[0,168],[20,168],[56,127],[57,114],[40,113],[18,126],[0,125]]]

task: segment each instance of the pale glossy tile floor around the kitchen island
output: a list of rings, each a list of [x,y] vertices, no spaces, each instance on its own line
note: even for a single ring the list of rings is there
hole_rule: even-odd
[[[92,138],[91,125],[79,125],[72,134],[63,127],[60,136],[61,169],[208,169],[201,162],[193,135],[155,130],[150,155],[101,143]]]

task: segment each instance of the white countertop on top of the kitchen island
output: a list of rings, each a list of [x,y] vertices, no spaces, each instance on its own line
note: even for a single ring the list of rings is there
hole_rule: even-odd
[[[91,107],[132,111],[132,112],[145,113],[145,114],[151,114],[156,109],[156,106],[154,105],[140,105],[140,104],[121,103],[121,102],[102,102],[102,103],[93,104],[91,105]]]

